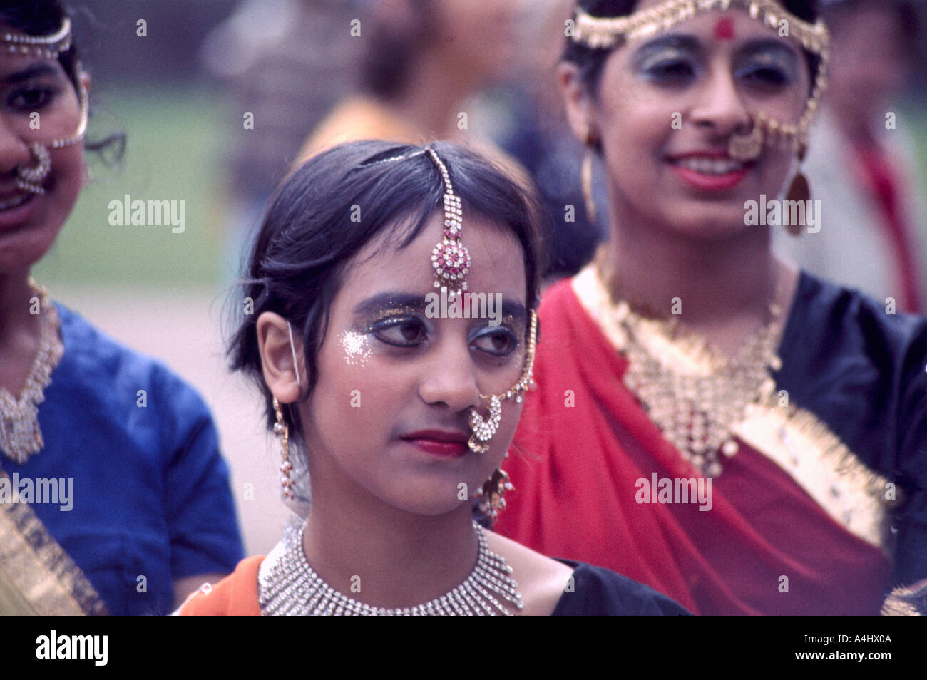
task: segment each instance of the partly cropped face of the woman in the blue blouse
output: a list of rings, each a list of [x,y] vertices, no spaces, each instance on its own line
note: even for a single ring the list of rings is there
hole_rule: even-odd
[[[17,170],[35,165],[30,145],[70,137],[80,120],[80,99],[57,59],[0,51],[0,275],[42,258],[70,215],[83,185],[83,143],[48,148],[44,194],[21,189]]]

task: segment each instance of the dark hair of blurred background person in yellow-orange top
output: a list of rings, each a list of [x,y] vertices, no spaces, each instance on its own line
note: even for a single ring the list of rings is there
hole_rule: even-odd
[[[402,92],[413,61],[434,39],[437,20],[434,2],[405,2],[408,11],[401,27],[387,25],[375,15],[365,24],[369,32],[361,57],[361,84],[367,92],[384,98]]]

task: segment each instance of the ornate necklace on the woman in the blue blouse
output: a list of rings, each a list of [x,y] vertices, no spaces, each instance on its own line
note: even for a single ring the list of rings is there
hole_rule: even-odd
[[[52,371],[64,352],[58,337],[57,309],[48,302],[44,287],[32,278],[29,286],[39,302],[39,351],[19,398],[0,387],[0,451],[20,465],[44,447],[39,428],[39,404],[45,399],[45,387],[51,383]]]

